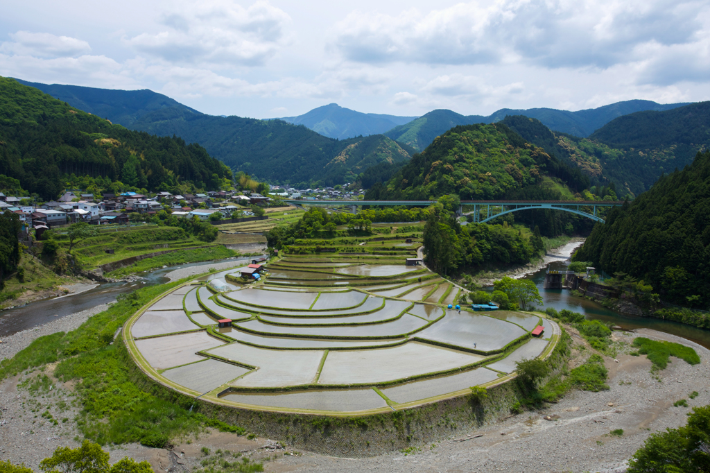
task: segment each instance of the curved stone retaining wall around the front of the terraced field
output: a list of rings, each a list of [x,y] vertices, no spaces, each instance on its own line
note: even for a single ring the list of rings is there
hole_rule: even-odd
[[[566,337],[563,332],[562,337]],[[131,366],[131,378],[141,388],[183,408],[239,425],[251,433],[280,440],[290,447],[322,455],[371,457],[411,446],[425,446],[466,434],[510,416],[510,409],[525,397],[509,379],[488,388],[488,397],[474,394],[449,398],[391,413],[337,417],[242,408],[195,399],[160,384],[132,361],[121,341],[121,352]],[[567,359],[563,338],[548,358],[554,376]],[[512,382],[511,382],[512,381]]]

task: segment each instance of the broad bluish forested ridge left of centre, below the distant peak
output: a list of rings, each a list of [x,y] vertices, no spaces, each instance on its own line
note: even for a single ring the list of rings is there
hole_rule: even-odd
[[[364,167],[408,160],[410,153],[383,135],[335,140],[305,126],[239,116],[195,116],[180,109],[146,114],[133,127],[197,142],[235,171],[297,187],[342,184]],[[300,185],[302,184],[302,185]]]

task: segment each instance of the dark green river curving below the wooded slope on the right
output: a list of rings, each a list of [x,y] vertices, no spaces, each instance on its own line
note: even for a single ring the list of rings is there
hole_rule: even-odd
[[[547,269],[564,270],[569,264],[569,254],[572,254],[577,244],[565,245],[557,250],[552,250],[552,254],[546,256],[547,266],[535,273],[525,276],[532,279],[540,291],[545,308],[552,307],[555,310],[569,309],[586,315],[588,319],[597,319],[603,322],[613,322],[624,330],[634,330],[638,328],[649,328],[659,332],[670,333],[683,337],[703,347],[710,349],[710,330],[703,330],[691,325],[685,325],[670,320],[655,319],[652,317],[635,317],[633,315],[623,315],[613,310],[609,310],[603,305],[579,298],[570,293],[568,289],[545,289],[545,271]]]

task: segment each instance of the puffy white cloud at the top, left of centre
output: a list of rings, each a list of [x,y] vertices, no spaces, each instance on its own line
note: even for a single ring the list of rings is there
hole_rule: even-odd
[[[286,42],[290,17],[268,1],[187,2],[162,18],[158,33],[126,39],[136,50],[180,63],[263,65]]]

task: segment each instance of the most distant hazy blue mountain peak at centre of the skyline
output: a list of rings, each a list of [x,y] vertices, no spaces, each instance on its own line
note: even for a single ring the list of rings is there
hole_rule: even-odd
[[[323,136],[342,140],[356,136],[382,134],[415,118],[417,117],[364,114],[345,109],[338,104],[329,104],[299,116],[287,116],[280,120],[294,125],[304,125]]]

